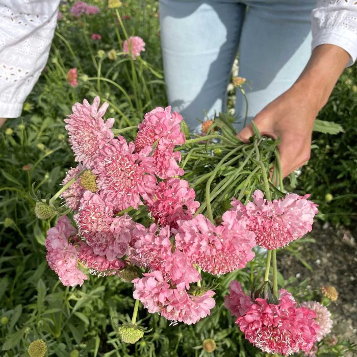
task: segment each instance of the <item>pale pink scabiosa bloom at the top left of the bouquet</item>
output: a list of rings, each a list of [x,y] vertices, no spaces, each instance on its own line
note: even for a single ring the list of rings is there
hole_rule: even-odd
[[[100,108],[99,103],[99,96],[94,98],[92,105],[86,99],[83,104],[76,103],[72,107],[73,113],[64,119],[75,161],[83,162],[88,169],[93,166],[97,150],[114,138],[110,130],[114,118],[106,122],[103,120],[108,103],[104,103]]]

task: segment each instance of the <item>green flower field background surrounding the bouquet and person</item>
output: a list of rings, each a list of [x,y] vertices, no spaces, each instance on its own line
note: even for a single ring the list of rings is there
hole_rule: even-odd
[[[132,0],[119,6],[120,2],[111,1],[108,6],[106,1],[94,2],[100,12],[78,16],[70,12],[73,4],[61,5],[48,63],[22,116],[8,120],[0,132],[0,355],[28,355],[30,343],[42,339],[47,354],[54,356],[265,356],[244,339],[235,318],[224,308],[232,280],[238,279],[249,290],[250,271],[262,271],[262,251],[256,251],[249,269],[208,278],[215,289],[216,307],[211,316],[194,325],[171,326],[158,314],[140,308],[139,322],[152,330],[135,345],[122,343],[118,336],[118,326],[134,308],[131,283],[116,275],[92,275],[82,287],[64,287],[48,268],[44,242],[54,222],[37,219],[30,193],[35,182],[35,191],[55,194],[66,171],[74,166],[63,122],[71,106],[98,95],[109,104],[107,116],[115,118],[114,127],[124,129],[139,124],[152,108],[167,104],[158,3]],[[140,36],[146,43],[145,52],[135,61],[123,53],[123,41],[129,36]],[[319,205],[315,220],[320,228],[316,235],[278,253],[279,286],[301,301],[323,301],[339,314],[337,336],[328,335],[319,343],[317,355],[325,357],[352,355],[355,342],[356,78],[356,66],[346,69],[319,114],[319,119],[334,121],[343,131],[339,125],[320,123],[311,160],[301,174],[287,180],[288,191],[312,194]],[[231,107],[235,90],[239,88],[230,91]],[[135,132],[125,134],[134,139]],[[312,237],[323,239],[327,246],[321,247]],[[329,251],[333,261],[345,266],[328,267]],[[342,256],[337,257],[338,253]],[[317,272],[320,264],[326,264],[322,273]],[[322,275],[320,281],[314,281],[314,275]],[[320,290],[321,285],[338,285],[340,276],[344,290],[338,289],[337,300]],[[344,334],[343,323],[349,334]]]

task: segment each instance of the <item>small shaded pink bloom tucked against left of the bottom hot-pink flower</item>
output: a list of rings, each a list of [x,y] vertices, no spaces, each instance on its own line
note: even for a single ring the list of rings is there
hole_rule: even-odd
[[[247,296],[240,283],[233,280],[230,285],[230,293],[224,297],[224,306],[235,317],[244,316],[247,310],[254,303],[250,296]]]

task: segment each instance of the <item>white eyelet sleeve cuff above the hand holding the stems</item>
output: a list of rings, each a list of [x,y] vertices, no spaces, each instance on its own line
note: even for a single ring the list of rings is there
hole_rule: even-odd
[[[334,44],[357,58],[357,1],[318,0],[311,13],[312,49],[321,44]]]

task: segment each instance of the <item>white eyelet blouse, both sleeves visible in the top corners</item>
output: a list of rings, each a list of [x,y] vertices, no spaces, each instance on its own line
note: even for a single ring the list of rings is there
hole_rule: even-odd
[[[0,0],[0,118],[20,116],[44,68],[60,0]],[[312,48],[324,43],[357,57],[357,0],[318,0]]]

